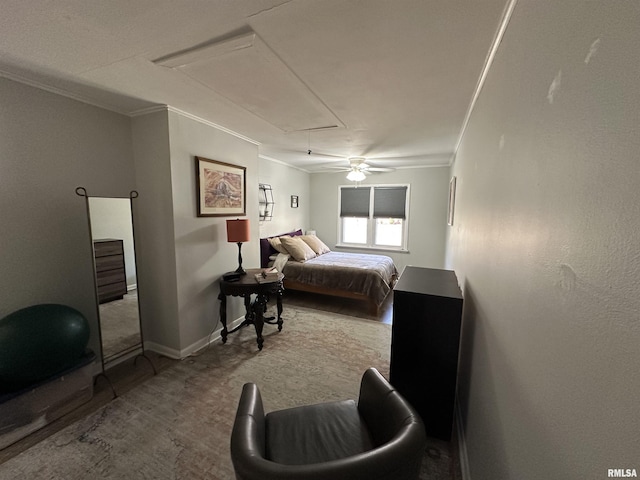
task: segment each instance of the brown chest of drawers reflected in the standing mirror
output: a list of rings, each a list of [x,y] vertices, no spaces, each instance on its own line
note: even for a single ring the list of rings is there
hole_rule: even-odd
[[[124,246],[122,240],[104,238],[94,240],[98,281],[98,302],[119,300],[127,293],[127,276],[124,269]]]

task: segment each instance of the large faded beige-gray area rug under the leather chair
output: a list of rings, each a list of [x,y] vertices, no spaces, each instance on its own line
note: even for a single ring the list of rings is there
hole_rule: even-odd
[[[357,398],[362,373],[389,375],[391,327],[301,307],[262,351],[246,327],[160,372],[87,418],[0,465],[11,479],[233,479],[229,438],[245,382],[265,411]],[[453,447],[431,441],[421,478],[458,478]]]

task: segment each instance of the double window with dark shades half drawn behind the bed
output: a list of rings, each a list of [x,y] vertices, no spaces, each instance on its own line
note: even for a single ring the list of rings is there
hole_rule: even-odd
[[[338,244],[407,249],[408,185],[340,187]]]

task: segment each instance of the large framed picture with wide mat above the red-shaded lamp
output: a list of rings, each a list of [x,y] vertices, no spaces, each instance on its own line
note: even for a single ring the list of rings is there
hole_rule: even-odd
[[[196,157],[199,217],[246,215],[246,167]]]

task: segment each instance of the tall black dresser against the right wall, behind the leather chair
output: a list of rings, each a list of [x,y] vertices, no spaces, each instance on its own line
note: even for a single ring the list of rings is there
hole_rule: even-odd
[[[453,428],[462,293],[453,271],[407,266],[393,289],[390,382],[418,411],[427,435]]]

